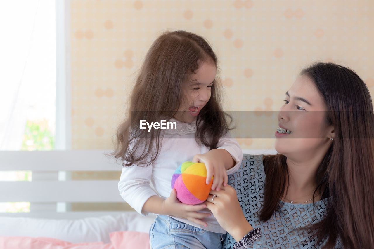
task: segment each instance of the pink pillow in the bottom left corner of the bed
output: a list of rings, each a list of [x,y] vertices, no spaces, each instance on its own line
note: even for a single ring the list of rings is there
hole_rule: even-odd
[[[0,248],[6,249],[114,249],[103,242],[72,244],[58,239],[31,237],[0,237]]]

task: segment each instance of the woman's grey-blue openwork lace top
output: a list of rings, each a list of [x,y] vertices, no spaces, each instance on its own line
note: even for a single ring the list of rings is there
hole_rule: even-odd
[[[252,227],[261,229],[262,237],[251,248],[321,248],[316,245],[312,231],[296,230],[320,221],[326,213],[327,199],[310,204],[279,202],[279,212],[266,222],[260,221],[264,199],[265,172],[263,155],[243,155],[240,169],[229,175],[229,184],[236,189],[240,206]],[[228,234],[223,248],[233,248],[236,241]],[[342,248],[338,241],[335,248]]]

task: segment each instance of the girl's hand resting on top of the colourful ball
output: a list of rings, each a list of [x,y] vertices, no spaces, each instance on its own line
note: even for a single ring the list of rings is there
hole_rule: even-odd
[[[206,184],[209,184],[212,176],[214,176],[212,190],[217,191],[220,191],[222,186],[227,185],[228,177],[226,170],[235,164],[230,153],[224,149],[214,149],[205,154],[197,154],[193,157],[192,162],[205,164],[207,172]]]

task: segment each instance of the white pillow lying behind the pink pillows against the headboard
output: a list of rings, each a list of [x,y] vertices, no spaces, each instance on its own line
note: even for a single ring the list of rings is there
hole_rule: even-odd
[[[0,217],[0,236],[47,237],[71,243],[110,243],[109,233],[138,231],[148,233],[155,215],[137,212],[83,219],[38,219]]]

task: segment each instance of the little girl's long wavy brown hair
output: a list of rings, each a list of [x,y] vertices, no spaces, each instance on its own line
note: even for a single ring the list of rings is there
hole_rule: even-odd
[[[184,103],[183,84],[201,62],[217,56],[208,42],[187,31],[165,32],[151,45],[132,90],[129,112],[120,124],[116,139],[116,158],[123,166],[147,166],[156,160],[163,133],[160,129],[140,129],[140,120],[169,121]],[[215,79],[211,97],[197,117],[197,142],[217,148],[218,140],[230,128],[231,117],[221,108],[220,81]]]

